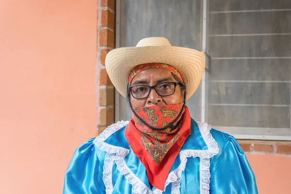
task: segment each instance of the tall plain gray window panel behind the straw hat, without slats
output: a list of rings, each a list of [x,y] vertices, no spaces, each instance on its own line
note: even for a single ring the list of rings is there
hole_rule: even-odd
[[[163,36],[172,46],[201,50],[201,7],[200,0],[122,0],[119,46],[134,47],[142,38]],[[196,120],[201,120],[200,88],[186,102]],[[119,120],[129,120],[126,100],[120,96],[117,104]]]

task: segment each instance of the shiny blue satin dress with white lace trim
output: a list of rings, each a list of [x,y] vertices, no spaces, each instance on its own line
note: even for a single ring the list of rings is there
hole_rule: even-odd
[[[165,189],[151,189],[145,166],[125,138],[127,123],[113,124],[76,150],[63,194],[258,194],[254,173],[235,138],[194,120]]]

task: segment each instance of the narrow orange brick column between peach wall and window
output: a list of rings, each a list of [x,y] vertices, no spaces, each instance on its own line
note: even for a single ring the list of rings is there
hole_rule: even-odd
[[[105,57],[115,47],[115,0],[97,0],[98,134],[114,122],[114,87],[105,69]]]

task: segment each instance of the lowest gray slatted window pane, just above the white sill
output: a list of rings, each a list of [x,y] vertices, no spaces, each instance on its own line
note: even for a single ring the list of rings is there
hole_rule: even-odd
[[[290,128],[290,107],[209,106],[212,126]]]

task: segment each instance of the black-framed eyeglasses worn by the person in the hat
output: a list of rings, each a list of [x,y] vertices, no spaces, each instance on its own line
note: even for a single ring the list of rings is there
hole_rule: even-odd
[[[163,82],[157,85],[135,85],[130,86],[129,91],[132,97],[136,99],[142,99],[149,96],[151,89],[155,89],[156,93],[161,97],[171,96],[175,93],[178,82]]]

